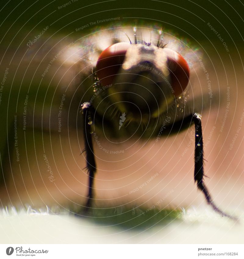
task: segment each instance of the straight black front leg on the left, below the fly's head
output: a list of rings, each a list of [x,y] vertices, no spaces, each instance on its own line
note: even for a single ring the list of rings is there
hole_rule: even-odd
[[[93,182],[96,172],[96,162],[91,138],[93,126],[92,124],[94,119],[94,108],[90,102],[83,103],[81,106],[83,113],[83,133],[86,151],[86,167],[89,175],[88,200],[86,203],[86,210],[88,210],[91,207],[91,203],[93,200]]]

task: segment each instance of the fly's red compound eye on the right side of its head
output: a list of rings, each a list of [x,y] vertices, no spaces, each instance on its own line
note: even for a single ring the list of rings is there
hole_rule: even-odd
[[[174,89],[174,95],[181,95],[188,85],[190,77],[190,68],[186,60],[172,49],[163,49],[167,54],[167,67],[170,71],[171,86]]]

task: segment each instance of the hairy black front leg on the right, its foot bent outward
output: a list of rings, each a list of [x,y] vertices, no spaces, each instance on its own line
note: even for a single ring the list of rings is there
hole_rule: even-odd
[[[207,203],[212,206],[212,208],[217,211],[222,216],[235,219],[234,217],[224,213],[220,210],[215,203],[213,202],[210,193],[203,182],[203,132],[202,132],[202,124],[201,124],[201,116],[197,113],[192,115],[192,119],[195,123],[195,170],[194,170],[194,179],[197,182],[197,187],[200,189],[207,200]]]

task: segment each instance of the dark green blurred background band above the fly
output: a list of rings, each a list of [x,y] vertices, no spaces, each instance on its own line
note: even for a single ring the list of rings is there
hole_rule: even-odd
[[[74,1],[74,0],[73,0]],[[69,1],[67,1],[69,2]],[[68,34],[96,20],[120,17],[120,21],[159,23],[167,30],[196,41],[215,41],[216,35],[206,25],[210,23],[228,45],[242,42],[243,3],[241,1],[81,1],[58,9],[65,1],[10,1],[2,7],[1,34],[5,46],[21,30],[42,30]],[[106,24],[102,24],[106,25]],[[88,28],[90,29],[90,28]],[[20,32],[18,32],[20,30]],[[84,33],[85,30],[82,31]],[[5,35],[5,33],[7,33]],[[74,32],[75,33],[75,32]],[[78,32],[80,34],[81,32]],[[13,43],[12,43],[13,44]]]

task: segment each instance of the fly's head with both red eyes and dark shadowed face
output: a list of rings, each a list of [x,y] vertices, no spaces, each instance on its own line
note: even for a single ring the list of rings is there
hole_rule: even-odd
[[[127,121],[132,122],[128,129],[133,128],[132,134],[138,123],[153,131],[152,126],[161,127],[169,113],[179,113],[178,103],[190,75],[188,63],[180,54],[144,41],[109,46],[100,54],[95,69],[99,85],[105,89],[97,113],[107,120],[111,114],[126,114]],[[99,122],[95,124],[99,126]]]

